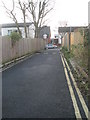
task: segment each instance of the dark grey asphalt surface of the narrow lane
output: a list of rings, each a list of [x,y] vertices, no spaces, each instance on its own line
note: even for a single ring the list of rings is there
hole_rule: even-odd
[[[2,74],[3,118],[75,118],[59,50],[45,50]]]

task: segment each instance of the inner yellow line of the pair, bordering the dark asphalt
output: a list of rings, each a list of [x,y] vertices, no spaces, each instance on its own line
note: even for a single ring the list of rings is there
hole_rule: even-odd
[[[74,91],[73,91],[73,88],[71,86],[71,82],[70,82],[70,79],[69,79],[69,76],[68,76],[68,73],[67,73],[67,69],[65,67],[65,63],[63,61],[62,56],[61,56],[61,60],[62,60],[63,66],[64,66],[64,71],[65,71],[65,75],[66,75],[66,79],[67,79],[67,83],[68,83],[71,99],[72,99],[72,102],[73,102],[76,119],[78,120],[80,118],[82,120],[81,114],[80,114],[80,111],[79,111],[79,108],[78,108],[78,105],[77,105],[77,101],[76,101],[76,98],[75,98],[75,95],[74,95]]]

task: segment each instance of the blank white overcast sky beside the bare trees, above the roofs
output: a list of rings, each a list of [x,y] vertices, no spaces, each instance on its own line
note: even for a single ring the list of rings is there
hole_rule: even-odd
[[[11,0],[0,0],[0,24],[12,22],[6,15],[1,1],[11,5]],[[54,10],[49,14],[47,25],[51,26],[52,35],[57,33],[61,21],[67,21],[68,26],[88,25],[88,2],[90,0],[55,0]]]

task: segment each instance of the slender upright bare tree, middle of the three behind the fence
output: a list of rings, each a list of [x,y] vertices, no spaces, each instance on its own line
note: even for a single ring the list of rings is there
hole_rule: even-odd
[[[26,10],[27,10],[27,7],[26,7],[26,4],[24,2],[21,3],[20,0],[18,0],[18,4],[19,4],[20,10],[22,11],[22,14],[23,14],[25,38],[27,38],[27,26],[26,26]]]

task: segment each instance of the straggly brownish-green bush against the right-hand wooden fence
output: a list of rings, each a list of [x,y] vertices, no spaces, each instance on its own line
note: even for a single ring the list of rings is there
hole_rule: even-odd
[[[74,58],[78,65],[88,70],[88,49],[83,44],[72,45],[69,52],[66,47],[62,47],[62,52],[67,60]]]

